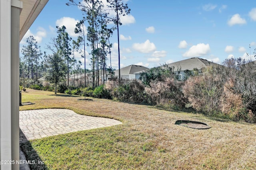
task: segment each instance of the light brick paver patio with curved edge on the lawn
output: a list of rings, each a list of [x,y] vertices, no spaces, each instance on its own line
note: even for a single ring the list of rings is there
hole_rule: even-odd
[[[20,143],[52,135],[121,124],[115,119],[79,115],[69,109],[20,111]]]

